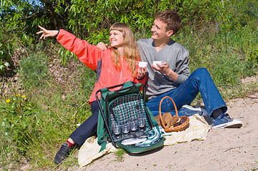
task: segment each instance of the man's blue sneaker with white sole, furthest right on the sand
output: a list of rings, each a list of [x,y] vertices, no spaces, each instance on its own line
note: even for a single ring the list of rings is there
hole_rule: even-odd
[[[219,117],[212,122],[212,128],[241,128],[242,125],[241,120],[229,118],[229,114],[227,113],[219,115]]]

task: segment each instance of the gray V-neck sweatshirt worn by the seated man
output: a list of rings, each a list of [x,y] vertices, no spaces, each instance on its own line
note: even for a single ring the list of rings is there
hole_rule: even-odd
[[[146,83],[146,95],[149,99],[177,88],[189,77],[189,51],[181,44],[170,39],[160,51],[156,51],[152,38],[140,39],[137,44],[142,61],[148,63],[149,78]],[[179,75],[177,81],[172,81],[169,76],[155,71],[151,66],[153,61],[167,62],[169,68]]]

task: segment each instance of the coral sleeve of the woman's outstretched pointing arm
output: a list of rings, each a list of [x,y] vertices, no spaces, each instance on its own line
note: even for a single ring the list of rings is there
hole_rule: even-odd
[[[95,71],[97,63],[102,56],[103,51],[94,45],[89,44],[87,41],[76,38],[73,34],[59,30],[56,36],[57,41],[61,43],[64,48],[72,53],[75,53],[79,60],[84,63],[88,68]]]

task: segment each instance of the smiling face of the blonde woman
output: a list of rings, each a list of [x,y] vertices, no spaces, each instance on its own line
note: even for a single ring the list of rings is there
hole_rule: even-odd
[[[109,41],[110,41],[110,46],[114,48],[119,48],[121,46],[124,46],[124,36],[121,31],[118,30],[112,30],[109,33]]]

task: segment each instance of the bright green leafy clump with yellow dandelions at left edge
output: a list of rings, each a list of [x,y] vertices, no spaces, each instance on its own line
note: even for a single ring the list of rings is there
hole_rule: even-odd
[[[0,110],[3,113],[1,125],[6,139],[14,140],[18,144],[19,152],[26,152],[33,139],[39,138],[40,133],[35,129],[40,120],[35,115],[33,104],[26,95],[17,94],[16,97],[9,97]]]

